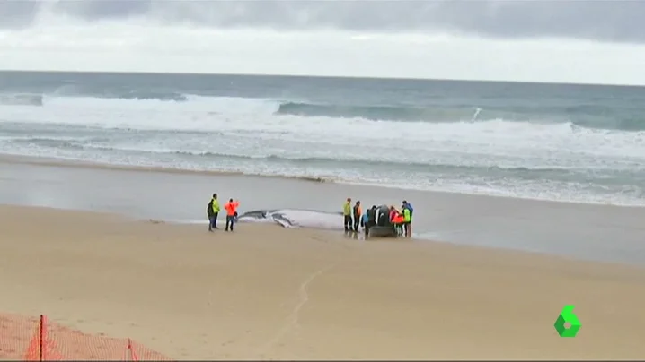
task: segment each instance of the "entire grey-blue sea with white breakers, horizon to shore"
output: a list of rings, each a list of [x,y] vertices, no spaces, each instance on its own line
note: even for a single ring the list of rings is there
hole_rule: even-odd
[[[645,88],[0,72],[0,152],[645,206]]]

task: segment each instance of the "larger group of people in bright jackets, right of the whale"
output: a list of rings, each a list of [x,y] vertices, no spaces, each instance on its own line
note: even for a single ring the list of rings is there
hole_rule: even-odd
[[[382,207],[383,208],[383,207]],[[372,205],[371,208],[363,212],[360,201],[357,201],[354,206],[351,205],[351,198],[348,197],[343,205],[343,224],[345,232],[358,232],[358,228],[364,228],[365,235],[369,233],[369,228],[376,226],[379,220],[380,208]],[[397,209],[393,205],[389,207],[387,214],[387,223],[392,226],[396,236],[411,237],[412,236],[412,213],[414,208],[411,203],[403,200],[401,209]]]

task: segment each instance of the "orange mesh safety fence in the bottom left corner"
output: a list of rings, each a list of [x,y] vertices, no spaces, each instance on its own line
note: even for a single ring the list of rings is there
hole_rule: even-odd
[[[47,316],[0,314],[0,360],[172,361],[128,338],[75,331]]]

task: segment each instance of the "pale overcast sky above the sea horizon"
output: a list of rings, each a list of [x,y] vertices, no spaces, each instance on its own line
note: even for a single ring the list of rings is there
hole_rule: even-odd
[[[52,19],[61,19],[63,16],[73,19],[52,21]],[[363,34],[364,38],[359,46],[363,51],[389,58],[389,60],[372,58],[371,63],[380,62],[381,65],[371,64],[368,67],[371,73],[358,75],[461,78],[464,73],[468,73],[468,76],[476,76],[476,74],[471,75],[473,73],[471,69],[466,69],[473,66],[472,59],[468,58],[475,56],[480,62],[477,66],[482,68],[482,75],[478,77],[481,79],[510,77],[529,80],[526,79],[528,77],[539,81],[545,75],[558,71],[558,64],[554,63],[557,59],[560,63],[575,62],[578,65],[580,62],[588,63],[579,66],[587,72],[587,75],[579,73],[573,74],[574,77],[570,80],[561,79],[566,78],[571,72],[570,65],[567,65],[566,70],[547,81],[583,82],[585,81],[583,78],[587,77],[588,82],[628,82],[630,79],[636,82],[634,79],[638,79],[639,83],[645,83],[645,75],[633,73],[645,73],[641,70],[641,65],[645,64],[642,63],[645,60],[643,16],[645,16],[645,1],[620,0],[357,0],[351,2],[0,0],[0,28],[2,28],[0,52],[3,55],[0,57],[0,68],[24,65],[30,69],[48,67],[57,69],[64,63],[67,63],[66,66],[77,66],[74,61],[64,61],[65,57],[74,56],[75,58],[86,57],[86,61],[78,61],[78,66],[90,66],[88,62],[91,60],[93,62],[90,62],[91,67],[105,68],[103,70],[121,70],[111,69],[110,66],[113,67],[113,64],[129,64],[130,68],[122,70],[137,70],[135,69],[137,66],[143,65],[135,66],[136,57],[138,56],[138,59],[143,62],[146,55],[151,56],[156,52],[155,56],[159,56],[159,47],[162,45],[160,44],[153,52],[150,44],[163,42],[163,48],[168,54],[166,60],[157,60],[155,64],[157,70],[167,68],[169,72],[181,71],[181,65],[178,62],[186,63],[190,52],[202,57],[229,57],[224,60],[219,59],[220,63],[212,69],[200,65],[200,71],[219,73],[218,69],[221,70],[223,65],[221,62],[227,62],[226,73],[236,73],[233,65],[240,62],[247,63],[247,66],[240,68],[241,71],[252,70],[253,65],[248,64],[248,60],[232,58],[241,56],[243,53],[244,56],[252,56],[256,59],[262,56],[266,62],[264,65],[258,65],[257,68],[265,73],[284,73],[288,72],[288,69],[297,68],[300,72],[351,75],[357,69],[365,71],[364,62],[367,62],[367,58],[349,59],[349,54],[356,52],[349,49],[357,46],[356,34],[351,36],[353,38],[349,35],[345,38],[339,35],[342,30],[349,30]],[[146,27],[141,25],[142,19],[147,21]],[[97,23],[97,20],[107,22]],[[83,21],[89,22],[84,24]],[[136,26],[133,25],[135,21],[138,21]],[[57,25],[56,28],[53,28],[54,24]],[[127,24],[130,26],[128,29],[124,28]],[[160,30],[162,28],[163,31]],[[186,33],[188,29],[192,31],[190,36]],[[200,33],[196,32],[198,29]],[[297,39],[285,38],[274,32],[261,32],[260,29],[289,31]],[[224,33],[215,33],[214,30],[230,30],[226,32],[229,37],[225,39]],[[316,35],[319,38],[316,38],[317,44],[313,47],[310,44],[313,39],[303,39],[305,36],[303,33],[294,34],[293,30],[305,30],[305,32],[324,30],[330,33],[333,30],[336,31],[334,36],[321,38],[320,35]],[[163,39],[159,38],[160,31],[164,34]],[[255,31],[255,38],[250,35],[250,31]],[[388,35],[370,38],[376,33]],[[413,41],[412,33],[416,34]],[[451,40],[456,43],[449,45],[446,44],[446,39],[443,42],[437,40],[439,34],[456,37]],[[190,47],[185,42],[190,42],[191,40],[187,39],[194,39],[192,37],[199,37],[199,39],[193,40],[196,44]],[[208,39],[202,39],[204,37]],[[240,37],[248,38],[240,40],[246,47],[242,50],[239,44],[234,44],[234,42],[240,42],[237,41]],[[262,44],[257,41],[260,39],[258,37],[262,39]],[[423,37],[428,39],[423,40]],[[70,44],[71,39],[75,39],[77,44]],[[172,43],[172,39],[176,39],[177,43]],[[253,39],[256,40],[253,41]],[[509,43],[504,40],[513,41]],[[58,42],[67,43],[64,47],[59,47]],[[594,44],[595,42],[597,44]],[[144,43],[147,45],[144,46]],[[574,43],[577,45],[572,46],[571,44]],[[298,49],[294,49],[296,44]],[[322,47],[325,49],[324,54],[321,53],[322,44],[325,44]],[[515,46],[510,47],[510,44]],[[182,60],[176,58],[178,55],[172,54],[172,47],[175,45],[177,49],[182,49],[182,56],[184,56]],[[43,51],[48,51],[47,64],[43,63],[44,59],[39,53],[39,47]],[[209,55],[210,47],[217,47],[219,50],[217,54]],[[229,47],[231,50],[227,51]],[[102,61],[97,59],[95,54],[99,48],[102,49]],[[274,50],[271,51],[271,49]],[[284,54],[278,55],[278,49],[289,53],[288,59],[284,58]],[[298,50],[297,53],[296,50]],[[496,51],[496,56],[482,56],[482,52],[489,51]],[[112,54],[114,52],[119,54]],[[400,55],[393,56],[394,52]],[[445,58],[437,58],[437,52],[445,55]],[[526,58],[518,58],[522,56],[518,53],[525,54]],[[337,56],[338,59],[332,59],[332,55]],[[110,59],[110,56],[114,59]],[[168,60],[172,56],[175,58],[172,61]],[[275,59],[267,59],[266,56],[275,56]],[[294,56],[297,59],[294,59]],[[328,63],[336,65],[327,68],[320,62],[316,65],[316,59],[321,56]],[[529,56],[533,56],[534,59]],[[535,59],[535,56],[540,59]],[[624,57],[631,60],[623,59]],[[60,64],[57,63],[58,61]],[[285,61],[289,63],[289,68],[278,69]],[[165,65],[161,65],[160,62]],[[352,62],[355,64],[352,65]],[[442,65],[446,62],[452,62],[453,65]],[[486,65],[486,62],[491,64]],[[501,65],[494,65],[494,62]],[[544,62],[553,64],[544,64]],[[304,63],[308,65],[302,65]],[[347,63],[347,66],[343,68],[344,65],[341,63]],[[412,63],[416,65],[411,65]],[[464,68],[459,70],[454,66],[455,63]],[[269,69],[267,64],[275,65],[275,69]],[[418,74],[401,71],[384,73],[385,69],[397,64],[419,71],[431,65],[434,73],[428,70]],[[503,69],[509,65],[521,69],[513,75],[513,72],[509,73],[508,69]],[[149,67],[149,65],[146,66]],[[494,69],[496,66],[499,70]],[[544,69],[535,69],[535,74],[531,75],[531,67],[541,66]],[[630,75],[629,72],[633,74]],[[441,76],[442,73],[444,76]],[[459,76],[459,73],[462,76]]]

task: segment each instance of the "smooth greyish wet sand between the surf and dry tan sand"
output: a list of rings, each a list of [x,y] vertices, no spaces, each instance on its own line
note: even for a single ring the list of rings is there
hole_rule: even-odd
[[[203,220],[214,192],[239,199],[242,212],[340,211],[348,196],[364,204],[407,199],[415,207],[418,238],[645,264],[645,208],[0,157],[0,203]]]

